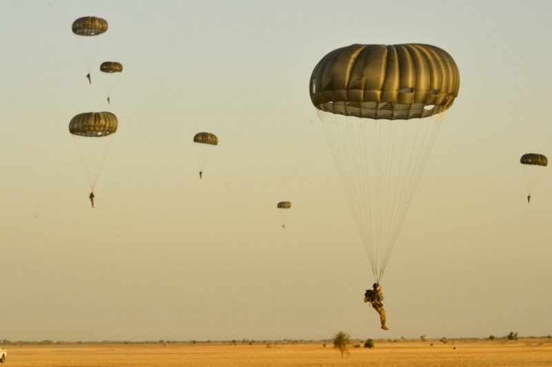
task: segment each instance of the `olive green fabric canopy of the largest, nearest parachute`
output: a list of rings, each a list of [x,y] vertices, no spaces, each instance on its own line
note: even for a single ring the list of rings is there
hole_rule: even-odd
[[[319,110],[388,120],[422,118],[449,109],[460,72],[447,52],[432,45],[350,45],[333,50],[311,75]]]

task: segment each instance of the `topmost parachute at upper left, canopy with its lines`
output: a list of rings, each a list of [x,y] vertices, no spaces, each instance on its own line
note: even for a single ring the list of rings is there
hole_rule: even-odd
[[[108,22],[106,19],[98,17],[82,17],[73,22],[71,29],[74,34],[79,36],[77,43],[81,49],[88,75],[90,75],[92,63],[94,63],[101,45],[101,35],[108,30]]]

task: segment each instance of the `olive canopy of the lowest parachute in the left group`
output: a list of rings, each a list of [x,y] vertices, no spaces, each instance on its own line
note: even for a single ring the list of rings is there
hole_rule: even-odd
[[[86,112],[73,117],[69,132],[78,136],[101,138],[117,132],[117,116],[111,112]]]

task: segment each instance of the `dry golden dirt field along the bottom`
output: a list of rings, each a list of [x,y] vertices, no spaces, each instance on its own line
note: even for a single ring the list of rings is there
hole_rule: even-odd
[[[431,346],[433,344],[433,346]],[[319,344],[4,346],[3,366],[552,366],[549,339],[375,342],[341,358]]]

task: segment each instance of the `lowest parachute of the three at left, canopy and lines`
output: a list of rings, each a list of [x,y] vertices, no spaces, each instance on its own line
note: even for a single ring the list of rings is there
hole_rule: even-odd
[[[81,158],[91,191],[94,191],[117,126],[117,116],[111,112],[78,114],[69,123],[69,132]]]

